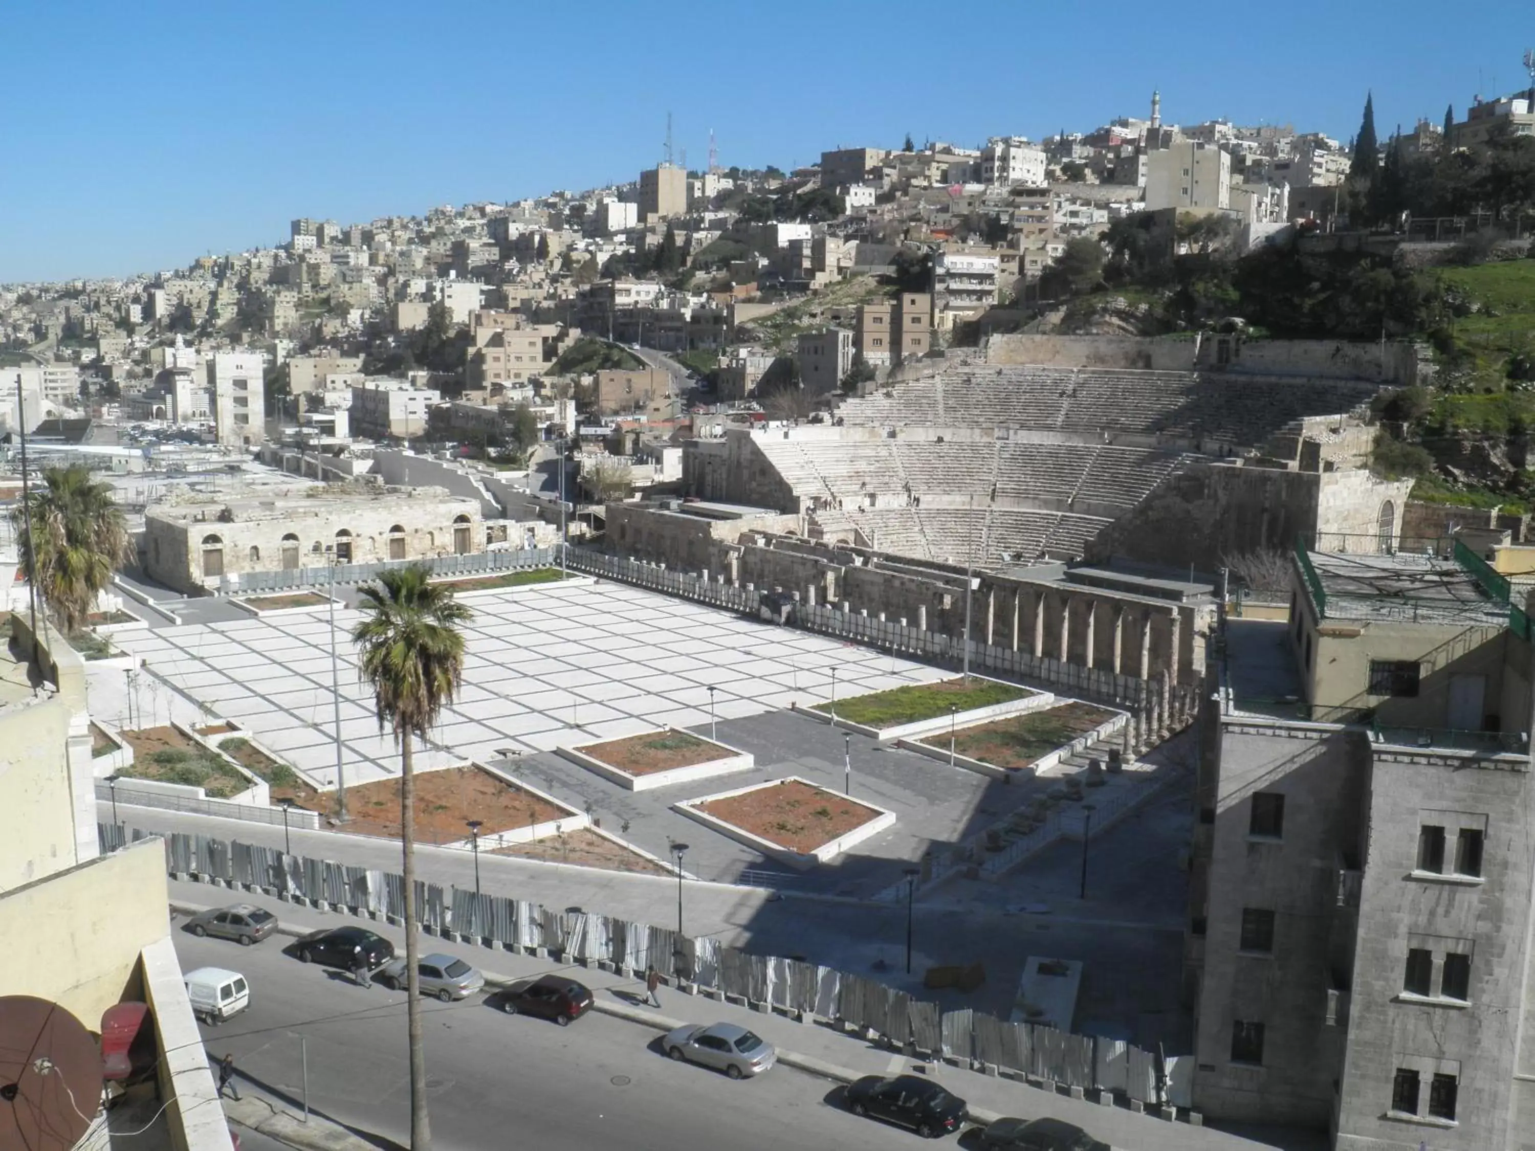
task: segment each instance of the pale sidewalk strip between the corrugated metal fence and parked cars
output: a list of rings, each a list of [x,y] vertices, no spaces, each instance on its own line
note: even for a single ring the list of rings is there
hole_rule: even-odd
[[[195,913],[207,905],[226,902],[220,899],[221,889],[190,882],[172,882],[170,887],[172,907],[181,912]],[[282,922],[279,933],[286,936],[356,922],[344,913],[299,909],[259,893],[229,892],[227,902],[236,901],[259,904],[272,910]],[[401,928],[371,921],[368,928],[402,945],[404,933]],[[1021,1116],[1024,1119],[1051,1116],[1088,1130],[1094,1137],[1110,1142],[1114,1148],[1133,1151],[1260,1151],[1260,1148],[1274,1146],[1185,1122],[1136,1114],[1114,1105],[1071,1099],[1015,1079],[909,1059],[852,1033],[841,1031],[830,1022],[798,1022],[777,1011],[755,1011],[743,1005],[718,1002],[703,994],[685,994],[677,990],[662,991],[660,1010],[640,1007],[639,1001],[645,990],[642,981],[603,971],[597,965],[560,968],[548,959],[450,942],[434,936],[431,936],[430,950],[456,955],[465,962],[474,964],[485,973],[487,984],[491,987],[528,979],[550,970],[579,971],[579,979],[591,987],[596,996],[594,1010],[648,1027],[655,1033],[665,1033],[683,1024],[720,1021],[740,1024],[774,1044],[778,1048],[780,1062],[841,1083],[866,1074],[915,1070],[941,1080],[950,1091],[969,1100],[972,1117],[979,1123],[992,1122],[1001,1116]],[[1309,1146],[1306,1134],[1299,1134],[1300,1140],[1291,1146]],[[307,1145],[296,1143],[296,1146]],[[325,1145],[325,1148],[332,1146],[336,1145]],[[315,1148],[315,1151],[325,1151],[325,1148]],[[338,1146],[336,1151],[342,1151],[342,1148]]]

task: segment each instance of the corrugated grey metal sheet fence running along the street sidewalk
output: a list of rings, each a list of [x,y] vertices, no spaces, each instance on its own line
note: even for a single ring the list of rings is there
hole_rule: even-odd
[[[121,827],[97,824],[97,830],[103,850],[123,846]],[[135,829],[134,838],[146,836]],[[335,910],[368,918],[404,919],[404,882],[388,872],[206,835],[172,833],[164,836],[164,846],[166,867],[177,876],[324,901]],[[416,918],[434,935],[459,935],[507,950],[542,950],[565,962],[611,964],[620,971],[654,965],[720,996],[840,1021],[935,1057],[990,1064],[1047,1083],[1111,1091],[1142,1103],[1191,1105],[1188,1076],[1170,1074],[1174,1060],[1162,1065],[1154,1053],[1130,1044],[1012,1022],[970,1008],[942,1011],[938,1004],[864,976],[781,956],[748,955],[714,938],[688,939],[665,927],[421,881]]]

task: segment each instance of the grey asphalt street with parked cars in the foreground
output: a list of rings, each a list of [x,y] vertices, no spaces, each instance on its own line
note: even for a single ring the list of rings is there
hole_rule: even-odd
[[[364,990],[304,967],[273,938],[250,948],[175,932],[183,970],[230,967],[247,976],[252,1007],[203,1027],[212,1057],[232,1053],[241,1090],[302,1096],[316,1113],[408,1143],[404,996]],[[775,1067],[732,1082],[654,1050],[643,1028],[591,1014],[568,1028],[508,1017],[471,996],[424,1001],[433,1140],[437,1148],[548,1146],[562,1151],[732,1151],[923,1146],[916,1136],[843,1111],[827,1080]]]

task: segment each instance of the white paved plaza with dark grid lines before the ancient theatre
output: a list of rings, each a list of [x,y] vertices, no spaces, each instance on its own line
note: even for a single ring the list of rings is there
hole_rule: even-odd
[[[866,648],[675,600],[620,583],[571,580],[464,597],[464,691],[445,707],[424,766],[464,758],[493,761],[503,749],[546,752],[659,726],[703,727],[838,695],[860,695],[944,672]],[[350,629],[355,609],[336,611],[342,763],[348,783],[399,773],[381,737],[373,700],[358,681]],[[335,786],[335,697],[330,623],[324,608],[264,618],[183,623],[118,634],[117,643],[216,715],[249,727],[322,786]],[[92,674],[92,711],[126,726],[166,712],[201,718],[141,677],[132,703],[123,672]]]

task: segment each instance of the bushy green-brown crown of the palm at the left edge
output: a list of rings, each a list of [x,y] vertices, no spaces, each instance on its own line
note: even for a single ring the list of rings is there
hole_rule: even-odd
[[[45,468],[43,486],[11,513],[28,580],[66,635],[91,615],[112,572],[134,554],[112,485],[91,479],[83,463]]]

